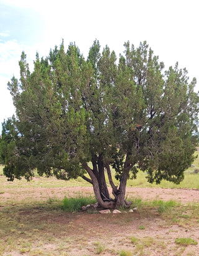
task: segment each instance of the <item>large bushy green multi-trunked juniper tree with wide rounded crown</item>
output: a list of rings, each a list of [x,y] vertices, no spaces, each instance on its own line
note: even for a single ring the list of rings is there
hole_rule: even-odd
[[[183,180],[198,144],[196,80],[189,83],[178,64],[164,72],[146,42],[124,47],[117,64],[114,51],[100,52],[97,40],[87,61],[75,44],[65,52],[62,42],[46,59],[36,55],[32,73],[22,52],[20,82],[13,77],[8,84],[16,118],[2,124],[10,180],[29,180],[35,169],[58,179],[81,176],[104,208],[129,205],[126,182],[139,169],[149,182]]]

